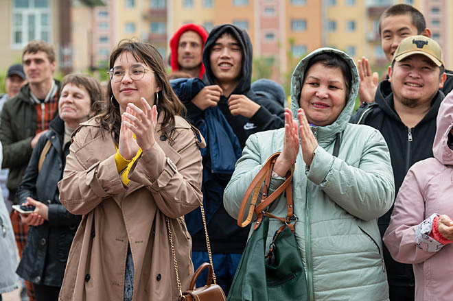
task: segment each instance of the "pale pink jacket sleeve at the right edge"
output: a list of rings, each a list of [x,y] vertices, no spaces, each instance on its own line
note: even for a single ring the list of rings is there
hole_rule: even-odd
[[[423,174],[414,165],[409,169],[404,182],[399,189],[395,207],[384,234],[384,243],[395,261],[400,263],[421,263],[436,254],[427,252],[417,246],[415,231],[425,218],[425,200]],[[426,248],[425,248],[426,249]]]

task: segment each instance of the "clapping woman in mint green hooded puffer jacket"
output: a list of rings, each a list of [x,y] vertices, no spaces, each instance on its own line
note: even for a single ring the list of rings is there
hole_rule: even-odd
[[[303,58],[292,74],[285,128],[248,138],[224,192],[224,207],[237,218],[248,185],[271,154],[282,152],[271,190],[295,162],[295,234],[310,301],[388,300],[377,217],[391,208],[395,185],[380,132],[348,123],[358,84],[356,64],[342,51],[321,48]],[[286,216],[283,195],[270,213]],[[279,226],[270,220],[266,245]]]

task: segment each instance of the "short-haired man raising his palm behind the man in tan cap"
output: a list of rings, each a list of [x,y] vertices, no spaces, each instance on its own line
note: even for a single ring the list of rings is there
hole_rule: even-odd
[[[431,37],[431,31],[426,27],[425,17],[419,10],[408,4],[396,4],[384,10],[379,20],[379,35],[382,50],[388,62],[393,59],[393,53],[399,42],[408,36],[422,35]],[[377,72],[372,73],[367,58],[358,61],[360,75],[359,101],[373,102],[379,82]],[[447,80],[441,89],[447,95],[453,89],[453,72],[445,71]]]

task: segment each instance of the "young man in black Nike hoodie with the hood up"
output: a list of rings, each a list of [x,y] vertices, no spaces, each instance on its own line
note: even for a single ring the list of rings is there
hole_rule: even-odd
[[[245,30],[231,24],[214,27],[206,40],[202,54],[206,69],[204,82],[207,85],[220,86],[222,94],[216,101],[207,99],[201,106],[199,103],[194,104],[194,101],[185,104],[187,117],[192,123],[202,118],[205,109],[217,106],[227,119],[242,148],[251,134],[281,128],[284,125],[283,107],[275,101],[256,95],[251,89],[252,52],[252,43]],[[210,142],[207,141],[208,148]],[[209,162],[203,158],[205,169],[207,164]],[[223,189],[227,186],[231,174],[210,175],[209,180],[212,181],[213,177],[220,191],[213,191],[214,185],[207,182],[204,172],[203,204],[207,215],[211,215],[211,217],[208,216],[207,228],[218,284],[228,294],[246,245],[249,228],[237,226],[235,219],[231,218],[223,207]],[[209,212],[209,204],[218,202],[220,205],[216,212]],[[195,218],[201,219],[199,210],[186,216],[186,220]],[[189,220],[187,224],[194,224],[194,221]],[[192,261],[197,268],[200,263],[208,261],[204,230],[198,230],[192,234],[192,239]],[[198,278],[198,286],[205,283],[205,279]]]

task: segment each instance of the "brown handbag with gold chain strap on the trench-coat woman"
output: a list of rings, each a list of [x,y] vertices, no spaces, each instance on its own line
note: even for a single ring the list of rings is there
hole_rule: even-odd
[[[170,139],[174,134],[174,130],[170,133]],[[168,141],[170,144],[170,141]],[[173,265],[174,271],[176,273],[176,285],[178,286],[179,291],[179,300],[180,301],[225,301],[227,298],[225,297],[225,293],[220,287],[220,285],[216,282],[216,274],[214,273],[213,263],[212,263],[212,254],[211,254],[211,244],[209,243],[209,236],[207,233],[207,226],[206,226],[206,218],[205,218],[205,209],[203,208],[203,203],[200,204],[201,208],[201,217],[203,220],[203,226],[205,227],[205,238],[206,238],[206,245],[207,251],[209,256],[209,263],[202,263],[200,267],[196,270],[194,276],[192,277],[189,285],[188,291],[182,291],[181,289],[181,280],[179,279],[178,274],[178,261],[176,260],[176,252],[174,249],[173,244],[173,236],[172,236],[172,228],[170,227],[170,219],[165,217],[165,221],[167,223],[167,232],[168,232],[168,240],[170,241],[170,248],[172,250],[173,256]],[[208,269],[208,276],[206,285],[203,287],[195,287],[195,282],[198,276],[201,274],[203,269]]]

